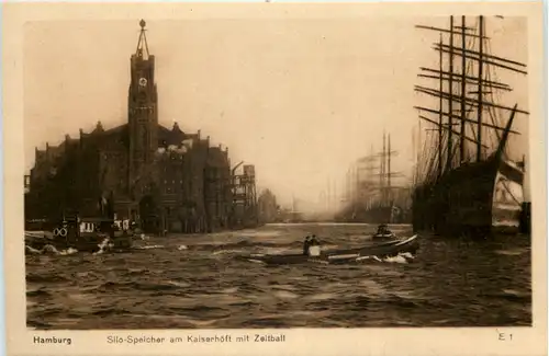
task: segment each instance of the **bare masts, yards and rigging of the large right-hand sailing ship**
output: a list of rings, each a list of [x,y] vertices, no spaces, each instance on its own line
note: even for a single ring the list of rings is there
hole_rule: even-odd
[[[508,84],[488,78],[488,68],[497,68],[522,74],[526,74],[527,72],[526,70],[524,70],[524,68],[526,67],[524,64],[486,53],[486,45],[484,44],[484,42],[489,38],[485,35],[484,18],[485,16],[479,18],[478,25],[475,26],[477,28],[479,28],[477,32],[474,31],[475,28],[467,27],[467,18],[463,15],[461,16],[461,26],[453,25],[453,16],[450,16],[449,19],[449,28],[416,25],[417,28],[438,32],[440,37],[440,39],[434,45],[434,49],[439,51],[439,55],[437,56],[439,60],[439,64],[437,66],[438,68],[432,69],[422,67],[422,72],[418,74],[418,77],[421,78],[436,79],[438,82],[438,88],[435,89],[429,87],[415,85],[415,91],[427,94],[429,96],[434,96],[438,101],[437,108],[414,106],[414,108],[419,111],[421,120],[426,120],[427,123],[435,125],[435,130],[438,133],[437,145],[434,147],[425,147],[424,149],[426,149],[426,151],[423,151],[422,153],[425,156],[422,158],[422,160],[426,160],[427,163],[417,165],[422,166],[423,174],[427,174],[422,180],[432,180],[434,177],[439,179],[441,175],[444,175],[446,170],[452,170],[452,158],[456,153],[459,154],[459,164],[462,164],[470,159],[481,161],[483,159],[485,150],[489,148],[495,151],[495,147],[486,146],[488,142],[484,137],[488,133],[486,129],[490,129],[491,133],[493,131],[500,142],[502,142],[502,138],[500,137],[501,133],[503,133],[504,135],[505,133],[507,133],[507,135],[505,136],[508,136],[508,134],[519,134],[512,130],[511,126],[501,125],[495,120],[493,120],[492,123],[488,123],[483,117],[483,112],[485,110],[490,108],[492,111],[494,108],[497,108],[501,111],[514,112],[515,114],[528,115],[527,111],[520,110],[516,107],[516,105],[504,105],[494,102],[492,96],[486,95],[486,93],[492,93],[492,91],[489,91],[488,89],[497,91],[512,91],[512,88]],[[448,44],[444,44],[444,34],[448,35]],[[456,36],[461,36],[461,41],[455,41]],[[467,48],[468,38],[474,38],[475,41],[479,41],[478,49]],[[459,44],[459,47],[455,47],[456,44]],[[448,57],[446,57],[448,69],[445,69],[444,66],[444,54],[449,55]],[[455,68],[455,56],[461,57],[461,70],[459,71],[457,70],[457,68]],[[472,68],[477,67],[478,72],[468,76],[468,62],[470,61],[477,62]],[[445,81],[447,81],[446,90]],[[460,82],[461,88],[459,93],[453,92],[452,87],[456,81]],[[475,90],[474,92],[468,92],[468,85],[474,85],[474,88],[478,88],[478,90]],[[445,101],[447,101],[447,105],[444,105]],[[459,114],[457,113],[457,111],[456,113],[453,112],[457,105],[459,105]],[[437,118],[429,117],[428,114],[436,115]],[[472,114],[472,116],[470,116],[470,114]],[[445,122],[445,119],[447,119],[447,122]],[[460,127],[457,128],[455,127],[456,125],[460,125]],[[470,136],[468,136],[467,125],[471,125],[471,130],[469,131]],[[447,137],[445,137],[446,134],[448,135]],[[448,142],[444,142],[445,139],[448,139]],[[452,147],[455,146],[455,140],[457,140],[457,145],[456,147]],[[467,157],[466,143],[474,145],[475,157]],[[433,149],[434,151],[438,152],[428,151]],[[438,154],[438,159],[436,154]],[[446,162],[444,162],[445,160]]]

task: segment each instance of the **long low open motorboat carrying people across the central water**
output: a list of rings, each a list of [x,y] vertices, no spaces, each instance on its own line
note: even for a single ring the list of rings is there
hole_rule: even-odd
[[[299,263],[321,263],[321,264],[340,264],[355,263],[368,259],[386,259],[396,256],[400,253],[414,254],[419,249],[417,234],[405,240],[393,240],[382,243],[376,243],[368,246],[320,251],[320,246],[314,246],[314,254],[250,254],[246,256],[237,256],[237,260],[265,263],[265,264],[299,264]]]

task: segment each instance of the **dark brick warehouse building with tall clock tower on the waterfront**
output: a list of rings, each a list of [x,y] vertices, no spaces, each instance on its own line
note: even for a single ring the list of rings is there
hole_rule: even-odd
[[[98,216],[110,202],[117,218],[146,231],[208,232],[231,227],[233,206],[228,150],[210,139],[158,124],[155,56],[145,22],[131,56],[127,123],[104,129],[99,122],[79,138],[35,151],[25,177],[26,219],[57,219],[68,210]],[[27,182],[26,182],[27,181]]]

